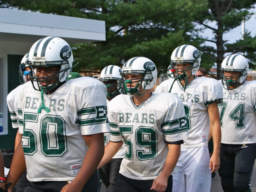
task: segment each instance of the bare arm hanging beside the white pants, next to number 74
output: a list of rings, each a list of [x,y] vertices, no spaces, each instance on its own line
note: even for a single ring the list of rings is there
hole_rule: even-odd
[[[221,141],[221,129],[220,129],[220,115],[217,103],[212,103],[207,107],[210,130],[212,132],[213,140],[213,153],[210,159],[209,168],[212,172],[217,171],[220,168],[220,141]]]

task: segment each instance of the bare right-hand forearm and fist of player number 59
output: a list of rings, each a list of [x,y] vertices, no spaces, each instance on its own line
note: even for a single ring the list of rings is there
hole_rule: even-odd
[[[169,151],[166,156],[163,171],[156,177],[156,179],[153,181],[152,187],[150,188],[151,190],[156,190],[157,192],[165,191],[168,178],[180,157],[180,144],[168,144],[168,148]]]

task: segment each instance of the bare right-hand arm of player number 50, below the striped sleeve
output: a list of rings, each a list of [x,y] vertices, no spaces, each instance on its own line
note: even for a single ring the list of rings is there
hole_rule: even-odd
[[[104,154],[104,135],[97,133],[92,135],[83,135],[88,146],[88,151],[84,156],[82,167],[77,174],[75,180],[65,185],[61,192],[81,191],[87,180],[96,170],[100,160]]]

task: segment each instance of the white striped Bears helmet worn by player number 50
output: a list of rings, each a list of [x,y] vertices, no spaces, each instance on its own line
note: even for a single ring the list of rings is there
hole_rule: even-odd
[[[45,92],[54,90],[59,83],[66,81],[68,74],[72,71],[73,53],[69,44],[60,37],[45,37],[32,45],[29,56],[28,65],[32,67],[34,76],[29,76],[32,84],[37,82],[38,88]],[[59,72],[45,77],[36,76],[37,67],[59,66]],[[49,80],[56,79],[52,84],[48,84]],[[46,82],[46,86],[40,85],[40,82]],[[34,84],[33,84],[34,86]],[[34,86],[34,89],[35,86]],[[36,89],[40,91],[39,89]]]

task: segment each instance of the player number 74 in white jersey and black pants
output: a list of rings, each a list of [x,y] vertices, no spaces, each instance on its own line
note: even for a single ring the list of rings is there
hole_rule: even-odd
[[[249,70],[243,55],[232,54],[221,64],[223,103],[219,104],[221,125],[220,169],[224,191],[251,191],[256,158],[256,81],[245,81]]]

